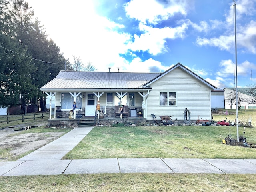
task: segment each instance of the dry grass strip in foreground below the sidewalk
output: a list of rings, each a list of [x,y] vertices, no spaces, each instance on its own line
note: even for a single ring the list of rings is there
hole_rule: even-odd
[[[255,174],[72,174],[0,179],[0,192],[255,192],[255,186]]]

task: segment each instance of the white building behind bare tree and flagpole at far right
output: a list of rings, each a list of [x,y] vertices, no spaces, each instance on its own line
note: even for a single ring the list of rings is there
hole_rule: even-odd
[[[225,109],[236,109],[236,88],[224,88],[225,91]],[[255,96],[250,95],[250,88],[237,88],[238,97],[241,98],[241,109],[256,109],[256,104],[252,104],[252,100],[255,100]],[[233,98],[230,99],[230,98]]]

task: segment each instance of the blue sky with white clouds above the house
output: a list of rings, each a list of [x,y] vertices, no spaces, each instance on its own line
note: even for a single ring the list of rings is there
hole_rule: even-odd
[[[25,1],[71,63],[164,72],[180,62],[222,89],[237,68],[238,87],[256,83],[256,0]]]

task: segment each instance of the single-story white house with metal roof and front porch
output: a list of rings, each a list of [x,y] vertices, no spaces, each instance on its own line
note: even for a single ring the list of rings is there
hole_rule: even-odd
[[[76,114],[94,116],[100,101],[104,118],[112,118],[115,106],[122,100],[131,110],[142,112],[143,118],[153,120],[151,114],[168,115],[184,120],[184,111],[190,110],[190,119],[211,119],[211,91],[217,88],[178,63],[163,73],[78,72],[60,71],[41,90],[55,97],[58,117],[67,118],[76,101]],[[55,113],[56,115],[56,113]]]

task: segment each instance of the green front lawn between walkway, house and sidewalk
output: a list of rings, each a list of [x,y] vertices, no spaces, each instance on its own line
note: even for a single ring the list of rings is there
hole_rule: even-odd
[[[256,148],[222,144],[229,134],[235,126],[95,127],[64,159],[256,158]],[[256,143],[256,128],[245,136]]]

